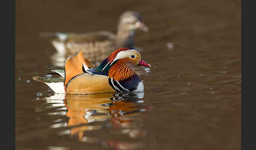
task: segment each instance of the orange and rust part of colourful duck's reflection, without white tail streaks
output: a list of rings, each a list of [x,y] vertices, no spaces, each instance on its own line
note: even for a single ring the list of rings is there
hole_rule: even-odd
[[[80,142],[100,143],[115,149],[133,149],[143,146],[141,142],[124,142],[145,136],[143,120],[137,115],[151,109],[142,100],[144,93],[66,94],[64,104],[69,117],[66,133]],[[102,122],[105,121],[104,125]],[[91,125],[88,125],[88,124]],[[109,131],[107,131],[107,128]],[[100,135],[86,135],[86,131],[103,130]],[[101,131],[99,131],[101,132]],[[110,132],[110,133],[109,133]],[[112,136],[124,136],[123,141]],[[130,139],[130,140],[129,140]]]

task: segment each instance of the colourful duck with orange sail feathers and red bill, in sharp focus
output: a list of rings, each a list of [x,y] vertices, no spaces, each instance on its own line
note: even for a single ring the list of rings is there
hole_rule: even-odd
[[[143,92],[144,86],[135,66],[151,67],[136,49],[119,48],[99,67],[92,67],[83,51],[67,58],[64,71],[52,70],[58,77],[33,77],[47,84],[55,93],[93,94],[105,92]],[[63,84],[64,82],[64,84]]]

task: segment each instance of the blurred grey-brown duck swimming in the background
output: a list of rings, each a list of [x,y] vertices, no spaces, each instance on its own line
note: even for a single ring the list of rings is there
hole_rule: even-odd
[[[119,18],[116,34],[109,31],[81,34],[55,33],[56,38],[51,41],[51,44],[58,52],[73,55],[84,51],[87,58],[102,61],[110,55],[111,49],[134,47],[134,32],[136,29],[148,30],[139,13],[126,11]]]

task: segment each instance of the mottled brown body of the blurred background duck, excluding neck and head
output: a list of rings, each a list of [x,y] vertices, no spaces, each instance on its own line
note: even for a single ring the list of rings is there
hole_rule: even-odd
[[[115,48],[115,35],[108,31],[60,34],[51,43],[58,52],[73,54],[83,50],[88,58],[102,60],[110,54],[111,49]]]

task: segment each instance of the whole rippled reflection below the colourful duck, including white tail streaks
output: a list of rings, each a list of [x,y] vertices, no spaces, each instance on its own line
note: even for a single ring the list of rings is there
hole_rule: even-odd
[[[41,113],[54,116],[50,128],[57,130],[58,136],[70,135],[80,142],[98,143],[115,149],[138,148],[143,146],[143,142],[131,140],[146,135],[143,119],[139,116],[152,109],[143,97],[144,93],[55,93],[43,98],[46,106]],[[111,138],[108,134],[112,134]],[[125,138],[121,141],[115,136]]]

